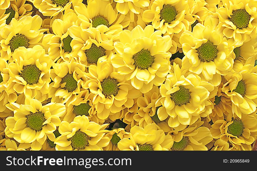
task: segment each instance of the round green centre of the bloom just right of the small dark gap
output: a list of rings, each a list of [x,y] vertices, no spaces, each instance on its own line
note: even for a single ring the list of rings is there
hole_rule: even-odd
[[[217,45],[213,45],[210,40],[202,44],[197,48],[197,53],[199,54],[199,59],[203,62],[214,61],[217,56]]]

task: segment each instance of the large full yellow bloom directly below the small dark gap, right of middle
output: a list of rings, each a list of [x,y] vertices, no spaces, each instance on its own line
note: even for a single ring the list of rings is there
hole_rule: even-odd
[[[167,75],[160,87],[161,98],[155,104],[161,106],[157,115],[161,121],[170,116],[168,124],[171,128],[180,124],[192,125],[212,112],[213,104],[209,98],[212,98],[210,92],[214,87],[202,81],[201,77],[189,74],[188,70],[180,69],[175,62],[173,68],[174,71]]]

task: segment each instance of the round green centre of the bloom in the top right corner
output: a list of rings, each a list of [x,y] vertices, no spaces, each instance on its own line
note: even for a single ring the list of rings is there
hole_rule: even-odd
[[[233,10],[230,21],[239,29],[246,28],[249,24],[251,15],[245,9]]]

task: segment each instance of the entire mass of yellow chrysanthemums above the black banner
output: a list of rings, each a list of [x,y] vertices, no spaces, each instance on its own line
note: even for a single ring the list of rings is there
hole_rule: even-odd
[[[0,0],[0,150],[251,150],[257,0]]]

